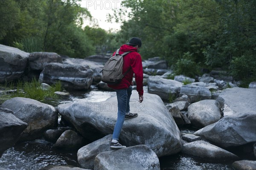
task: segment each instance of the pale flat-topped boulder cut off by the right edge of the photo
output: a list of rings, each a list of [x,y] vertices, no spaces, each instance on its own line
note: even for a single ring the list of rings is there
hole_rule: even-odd
[[[224,116],[256,111],[256,89],[227,88],[216,99]]]

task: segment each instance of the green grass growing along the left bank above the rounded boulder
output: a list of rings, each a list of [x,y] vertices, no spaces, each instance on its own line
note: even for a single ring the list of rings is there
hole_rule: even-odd
[[[5,82],[5,90],[15,90],[13,94],[2,95],[3,98],[0,102],[5,101],[13,97],[25,97],[30,99],[35,99],[38,101],[44,101],[46,98],[57,99],[58,96],[54,93],[55,91],[61,91],[61,82],[58,81],[55,85],[51,85],[48,90],[43,90],[41,88],[41,83],[39,80],[33,78],[31,82],[17,81],[16,86],[14,82]]]

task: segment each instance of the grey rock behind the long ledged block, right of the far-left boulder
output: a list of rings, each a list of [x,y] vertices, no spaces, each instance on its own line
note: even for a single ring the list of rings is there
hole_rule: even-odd
[[[42,71],[48,63],[62,63],[62,58],[57,53],[34,52],[29,54],[29,67],[32,70]]]

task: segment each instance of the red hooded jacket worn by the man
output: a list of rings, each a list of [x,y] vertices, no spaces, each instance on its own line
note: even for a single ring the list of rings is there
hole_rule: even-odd
[[[142,68],[142,59],[139,53],[137,53],[137,48],[132,47],[131,45],[122,45],[119,50],[119,54],[123,54],[126,51],[133,51],[129,54],[126,54],[123,57],[123,70],[124,74],[131,66],[131,70],[122,78],[121,82],[116,85],[108,85],[108,87],[120,90],[128,88],[131,85],[133,74],[135,74],[135,81],[137,84],[137,91],[139,95],[143,95],[143,68]],[[116,54],[114,52],[113,56]]]

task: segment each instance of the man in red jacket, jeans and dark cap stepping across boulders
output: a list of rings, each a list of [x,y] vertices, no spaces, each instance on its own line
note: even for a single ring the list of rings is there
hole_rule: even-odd
[[[142,42],[139,38],[133,37],[129,41],[129,43],[125,43],[120,47],[119,54],[123,54],[127,51],[132,51],[126,54],[123,57],[123,69],[122,73],[124,74],[130,71],[122,78],[121,82],[116,85],[108,85],[110,88],[113,88],[116,91],[117,102],[118,102],[118,113],[117,113],[117,121],[113,131],[112,141],[111,141],[111,148],[124,148],[126,146],[122,146],[118,142],[119,135],[124,123],[125,119],[130,119],[137,117],[137,113],[130,112],[130,97],[133,85],[132,79],[133,74],[135,74],[135,81],[137,84],[137,91],[139,93],[139,102],[143,102],[143,68],[142,68],[142,59],[137,51],[141,47]],[[114,52],[113,56],[116,54]]]

